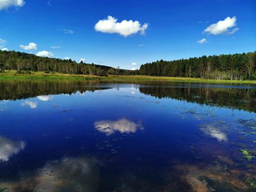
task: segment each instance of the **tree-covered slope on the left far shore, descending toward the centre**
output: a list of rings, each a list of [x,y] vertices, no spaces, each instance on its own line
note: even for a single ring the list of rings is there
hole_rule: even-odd
[[[3,70],[17,70],[19,73],[26,71],[37,71],[46,73],[66,73],[106,76],[111,75],[132,75],[131,70],[115,69],[108,66],[77,63],[76,61],[63,60],[58,58],[39,57],[34,54],[0,51],[0,72]]]

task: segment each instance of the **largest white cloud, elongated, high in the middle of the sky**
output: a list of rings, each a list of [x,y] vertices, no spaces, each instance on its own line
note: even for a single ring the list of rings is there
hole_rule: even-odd
[[[94,29],[102,33],[118,33],[124,37],[140,32],[145,33],[148,24],[141,25],[137,20],[122,20],[117,22],[117,18],[108,16],[107,19],[99,20]]]

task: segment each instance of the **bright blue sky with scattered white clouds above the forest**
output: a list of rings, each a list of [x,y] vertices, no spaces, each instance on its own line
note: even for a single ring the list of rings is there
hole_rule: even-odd
[[[255,10],[254,0],[0,0],[0,49],[123,69],[249,52],[256,50]]]

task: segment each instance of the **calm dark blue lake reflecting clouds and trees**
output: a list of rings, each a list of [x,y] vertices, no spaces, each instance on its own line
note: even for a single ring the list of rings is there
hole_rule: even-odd
[[[0,191],[255,191],[256,86],[0,81]]]

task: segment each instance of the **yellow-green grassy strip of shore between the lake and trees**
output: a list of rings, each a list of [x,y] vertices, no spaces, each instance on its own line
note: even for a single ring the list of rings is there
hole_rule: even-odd
[[[208,82],[208,83],[250,83],[256,80],[214,80],[189,77],[156,77],[141,75],[110,75],[100,77],[93,75],[71,75],[61,73],[31,72],[31,74],[17,74],[16,71],[0,73],[0,80],[122,80],[122,81],[164,81],[164,82]]]

